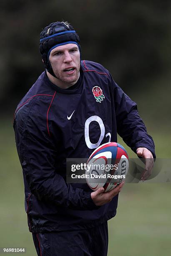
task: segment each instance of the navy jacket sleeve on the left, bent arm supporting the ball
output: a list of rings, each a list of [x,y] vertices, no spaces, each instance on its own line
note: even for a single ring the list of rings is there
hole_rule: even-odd
[[[33,117],[22,122],[19,113],[14,121],[15,140],[23,175],[33,195],[73,210],[98,209],[91,192],[73,188],[56,172],[56,149],[41,122]]]

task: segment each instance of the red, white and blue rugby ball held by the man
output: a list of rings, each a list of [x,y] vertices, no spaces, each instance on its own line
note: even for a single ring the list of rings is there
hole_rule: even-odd
[[[104,187],[104,192],[108,192],[125,179],[128,168],[125,148],[119,143],[108,142],[96,148],[89,157],[86,182],[94,191]]]

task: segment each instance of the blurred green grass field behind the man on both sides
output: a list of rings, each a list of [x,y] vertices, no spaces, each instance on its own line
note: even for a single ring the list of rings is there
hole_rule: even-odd
[[[158,157],[171,156],[167,132],[153,132]],[[24,209],[23,174],[15,148],[12,122],[0,128],[0,247],[25,247],[36,256]],[[125,144],[119,139],[119,142]],[[128,149],[126,147],[126,149]],[[128,150],[130,157],[136,155]],[[108,256],[171,255],[171,183],[125,184],[118,211],[108,221]]]

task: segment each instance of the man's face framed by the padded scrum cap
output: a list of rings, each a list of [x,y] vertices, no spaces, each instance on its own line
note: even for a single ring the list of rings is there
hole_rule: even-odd
[[[54,48],[49,61],[59,85],[77,82],[80,74],[80,51],[76,44],[65,44]]]

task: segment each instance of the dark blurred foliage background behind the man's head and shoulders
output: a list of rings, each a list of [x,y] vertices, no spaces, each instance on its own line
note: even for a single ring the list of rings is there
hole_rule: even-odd
[[[100,62],[126,92],[171,68],[171,1],[1,0],[0,107],[11,114],[43,71],[39,35],[68,20],[81,39],[82,59]],[[159,86],[159,85],[158,85]]]

